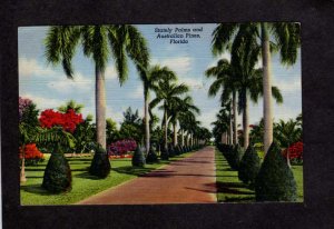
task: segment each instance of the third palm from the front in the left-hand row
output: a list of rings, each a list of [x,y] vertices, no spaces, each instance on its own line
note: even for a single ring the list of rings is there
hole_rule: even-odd
[[[168,122],[170,118],[170,111],[171,104],[176,102],[181,102],[181,99],[179,98],[184,93],[189,91],[189,88],[185,86],[184,83],[177,84],[175,81],[177,79],[176,74],[169,70],[167,67],[164,68],[165,70],[159,73],[160,78],[157,82],[156,88],[156,98],[151,101],[153,108],[158,104],[159,102],[163,102],[160,106],[160,109],[164,110],[164,125],[165,125],[165,149],[168,148]]]

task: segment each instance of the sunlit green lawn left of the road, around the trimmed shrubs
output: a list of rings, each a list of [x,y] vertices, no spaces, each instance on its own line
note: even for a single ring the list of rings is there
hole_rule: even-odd
[[[134,168],[131,159],[111,159],[111,172],[106,179],[98,179],[88,173],[92,157],[68,158],[72,171],[72,190],[67,193],[52,195],[41,188],[47,160],[37,166],[26,167],[27,182],[21,185],[21,205],[70,205],[86,199],[108,188],[143,176],[171,161],[189,157],[191,152],[146,165],[145,168]]]

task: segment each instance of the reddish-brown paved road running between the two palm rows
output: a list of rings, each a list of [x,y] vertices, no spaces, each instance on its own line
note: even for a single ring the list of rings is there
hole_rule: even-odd
[[[78,205],[210,202],[217,202],[215,151],[213,147],[206,147],[188,158],[91,196]]]

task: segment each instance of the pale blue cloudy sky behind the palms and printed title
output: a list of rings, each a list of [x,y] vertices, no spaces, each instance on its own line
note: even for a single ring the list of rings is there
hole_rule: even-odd
[[[178,76],[178,81],[190,88],[189,94],[194,103],[200,109],[197,119],[208,129],[215,121],[219,110],[219,96],[208,98],[207,91],[213,80],[207,79],[205,70],[216,64],[220,58],[230,58],[225,52],[214,57],[210,50],[212,32],[215,23],[205,24],[136,24],[147,40],[150,52],[150,64],[168,66]],[[170,43],[169,38],[157,38],[168,32],[158,32],[171,29],[169,34],[183,34],[188,43]],[[66,78],[60,66],[48,64],[45,58],[45,38],[48,27],[20,27],[18,31],[19,46],[19,94],[31,99],[37,108],[57,109],[69,100],[84,104],[82,114],[95,116],[95,64],[91,59],[84,57],[82,47],[78,47],[73,58],[75,79]],[[157,30],[158,29],[158,30]],[[189,29],[190,32],[186,32]],[[193,31],[199,29],[199,31]],[[202,30],[200,30],[202,29]],[[199,38],[186,39],[186,33],[199,34]],[[179,39],[176,39],[179,40]],[[183,40],[183,39],[180,39]],[[122,112],[131,107],[138,109],[143,117],[144,96],[143,83],[131,61],[128,61],[128,80],[120,87],[114,60],[108,61],[106,69],[106,103],[107,118],[118,125],[122,121]],[[261,62],[257,63],[262,66]],[[283,104],[274,102],[274,120],[287,120],[302,112],[302,71],[301,52],[292,67],[282,66],[279,56],[272,56],[273,86],[277,86],[283,94]],[[220,93],[220,92],[219,92]],[[153,94],[154,97],[154,94]],[[161,112],[155,112],[161,118]],[[250,102],[250,123],[258,123],[263,117],[262,99],[257,103]],[[242,122],[239,117],[238,122]]]

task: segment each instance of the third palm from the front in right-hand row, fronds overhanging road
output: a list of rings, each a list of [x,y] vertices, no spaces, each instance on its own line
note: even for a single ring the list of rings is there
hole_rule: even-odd
[[[232,96],[232,109],[233,109],[233,142],[237,143],[237,106],[236,106],[236,92],[237,81],[233,72],[233,66],[227,59],[220,59],[217,66],[212,67],[205,71],[207,78],[215,77],[215,81],[212,83],[208,96],[215,97],[222,89],[220,101],[227,101]],[[232,129],[230,129],[232,131]]]

